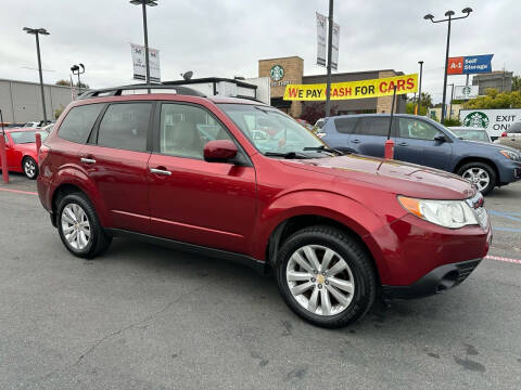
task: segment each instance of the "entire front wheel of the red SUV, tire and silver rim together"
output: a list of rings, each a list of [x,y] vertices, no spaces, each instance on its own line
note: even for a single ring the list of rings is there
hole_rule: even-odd
[[[284,242],[277,259],[277,282],[296,314],[329,328],[364,316],[377,291],[372,261],[360,244],[322,225],[303,229]]]

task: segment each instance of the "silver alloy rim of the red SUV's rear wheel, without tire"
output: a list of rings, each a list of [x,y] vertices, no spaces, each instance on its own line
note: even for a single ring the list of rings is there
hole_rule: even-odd
[[[65,206],[61,223],[63,235],[73,249],[82,250],[89,245],[92,236],[90,223],[87,213],[79,205]]]

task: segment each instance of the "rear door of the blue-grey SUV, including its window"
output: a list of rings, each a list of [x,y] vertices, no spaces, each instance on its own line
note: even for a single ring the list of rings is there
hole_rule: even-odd
[[[366,156],[383,157],[390,120],[389,116],[359,118],[355,131],[351,135],[350,146],[356,153]]]

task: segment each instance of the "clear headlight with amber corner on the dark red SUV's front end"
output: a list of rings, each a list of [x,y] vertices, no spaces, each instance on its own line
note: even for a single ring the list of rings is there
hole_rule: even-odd
[[[437,225],[458,229],[480,224],[472,208],[466,200],[431,200],[398,196],[402,206],[410,213]],[[486,211],[485,211],[486,214]],[[484,226],[486,227],[486,221]]]

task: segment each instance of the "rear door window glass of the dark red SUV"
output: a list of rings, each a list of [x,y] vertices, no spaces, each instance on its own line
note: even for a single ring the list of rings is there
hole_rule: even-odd
[[[98,130],[98,145],[145,152],[151,103],[111,104]]]

